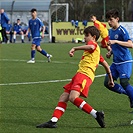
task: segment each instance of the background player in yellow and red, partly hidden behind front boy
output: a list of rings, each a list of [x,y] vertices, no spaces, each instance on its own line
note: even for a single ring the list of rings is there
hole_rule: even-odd
[[[100,35],[102,38],[101,47],[106,48],[108,51],[110,51],[111,49],[107,45],[107,42],[109,41],[109,36],[108,36],[108,29],[106,28],[106,25],[98,21],[95,15],[91,15],[90,19],[94,23],[94,26],[100,31]]]

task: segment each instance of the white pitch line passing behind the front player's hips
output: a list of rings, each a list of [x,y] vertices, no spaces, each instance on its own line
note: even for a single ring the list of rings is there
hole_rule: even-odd
[[[98,77],[103,77],[106,74],[97,75]],[[38,82],[22,82],[22,83],[6,83],[6,84],[0,84],[0,86],[10,86],[10,85],[31,85],[31,84],[45,84],[45,83],[56,83],[56,82],[65,82],[65,81],[71,81],[71,79],[64,79],[64,80],[49,80],[49,81],[38,81]]]

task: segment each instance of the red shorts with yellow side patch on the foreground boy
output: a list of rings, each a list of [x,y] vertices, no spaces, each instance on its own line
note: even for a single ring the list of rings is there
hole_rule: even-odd
[[[76,90],[80,92],[81,96],[87,97],[91,84],[92,80],[89,77],[82,73],[76,73],[71,82],[66,84],[63,88],[65,89],[65,92],[70,93],[71,90]]]

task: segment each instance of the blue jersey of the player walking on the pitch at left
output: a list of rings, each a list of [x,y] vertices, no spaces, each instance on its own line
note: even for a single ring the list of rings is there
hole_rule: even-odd
[[[31,30],[32,38],[41,38],[40,31],[43,27],[43,23],[39,18],[29,20],[29,28]]]

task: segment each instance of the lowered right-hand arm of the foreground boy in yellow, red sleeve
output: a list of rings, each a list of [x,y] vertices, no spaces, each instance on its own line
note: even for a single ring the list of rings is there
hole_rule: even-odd
[[[109,77],[108,85],[110,87],[113,87],[114,86],[114,81],[113,81],[112,74],[111,74],[110,67],[109,67],[108,63],[104,60],[104,58],[102,56],[100,56],[99,63],[105,68],[105,71],[106,71],[106,73]]]

